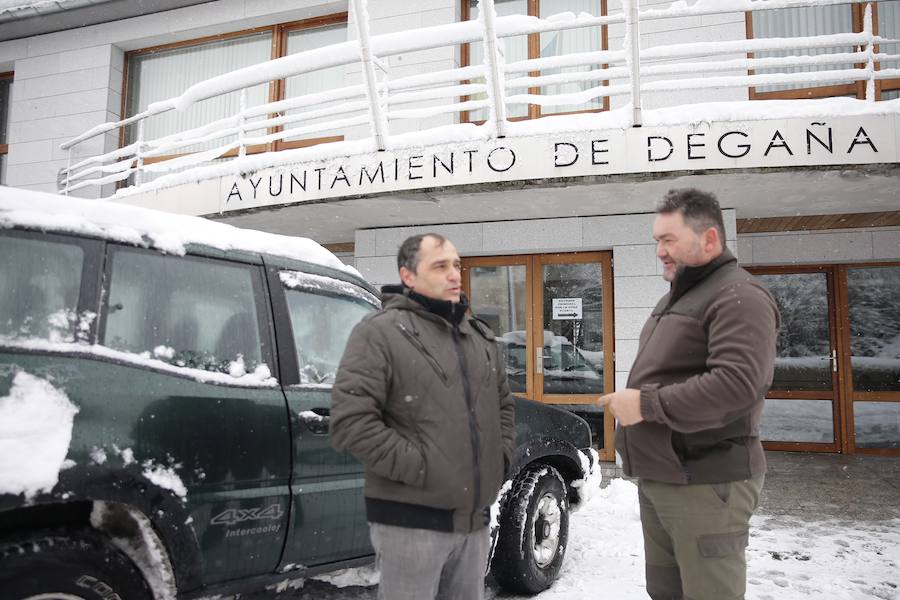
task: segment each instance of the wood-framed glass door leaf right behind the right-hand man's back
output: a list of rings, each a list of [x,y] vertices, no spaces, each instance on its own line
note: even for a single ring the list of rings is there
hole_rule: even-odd
[[[755,270],[778,304],[775,379],[760,434],[773,450],[839,451],[837,342],[829,269]]]

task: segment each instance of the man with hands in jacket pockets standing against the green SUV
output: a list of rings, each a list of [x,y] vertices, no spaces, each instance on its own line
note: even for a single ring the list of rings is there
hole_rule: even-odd
[[[378,597],[478,600],[513,398],[493,334],[466,314],[453,244],[413,236],[397,263],[402,285],[382,288],[338,367],[332,445],[365,467]]]

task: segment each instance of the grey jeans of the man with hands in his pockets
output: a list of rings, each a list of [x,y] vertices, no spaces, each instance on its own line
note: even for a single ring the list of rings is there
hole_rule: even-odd
[[[369,523],[378,600],[483,600],[489,529],[447,533]]]

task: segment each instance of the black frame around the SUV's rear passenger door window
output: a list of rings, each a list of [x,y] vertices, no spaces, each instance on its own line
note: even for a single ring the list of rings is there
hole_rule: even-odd
[[[112,283],[112,267],[114,262],[114,256],[116,252],[131,252],[134,254],[144,255],[144,256],[156,256],[159,258],[164,258],[168,260],[174,261],[194,261],[200,263],[207,263],[210,265],[215,264],[224,264],[233,267],[244,268],[250,273],[250,280],[253,292],[253,301],[254,301],[254,310],[256,311],[256,324],[257,329],[259,331],[259,344],[260,344],[260,364],[265,364],[272,373],[272,377],[276,380],[279,380],[279,369],[278,369],[278,361],[277,361],[277,352],[274,344],[274,332],[272,326],[272,315],[269,309],[269,302],[267,298],[267,289],[265,287],[265,277],[262,274],[262,267],[259,263],[253,261],[242,261],[233,258],[224,259],[218,257],[205,256],[203,254],[189,253],[184,256],[175,256],[171,254],[165,254],[158,250],[140,248],[136,246],[131,246],[128,244],[119,244],[119,243],[107,243],[106,251],[104,252],[104,266],[103,266],[103,284],[102,290],[100,290],[100,294],[102,294],[102,302],[99,306],[98,318],[95,319],[97,329],[96,329],[96,342],[98,345],[103,346],[104,348],[110,348],[112,350],[116,350],[111,346],[106,344],[106,326],[107,320],[109,318],[109,299],[110,299],[110,284]],[[97,286],[98,289],[100,286]],[[126,352],[124,350],[116,350],[120,352]],[[156,369],[152,367],[148,367],[146,365],[139,365],[139,368],[156,371]],[[187,367],[185,367],[187,368]],[[165,372],[169,372],[165,370]],[[209,373],[223,373],[222,371],[208,371]],[[225,373],[227,375],[227,373]],[[187,375],[185,375],[187,376]],[[215,383],[215,385],[228,385],[228,384],[219,384]],[[241,384],[241,387],[246,387],[246,384]],[[266,387],[266,386],[262,386]]]

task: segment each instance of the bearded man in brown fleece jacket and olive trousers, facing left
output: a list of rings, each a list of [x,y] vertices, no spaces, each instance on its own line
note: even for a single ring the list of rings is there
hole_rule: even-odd
[[[625,473],[639,478],[647,593],[739,600],[778,309],[725,247],[713,195],[670,191],[653,237],[671,289],[641,331],[627,389],[600,404],[618,421]]]

